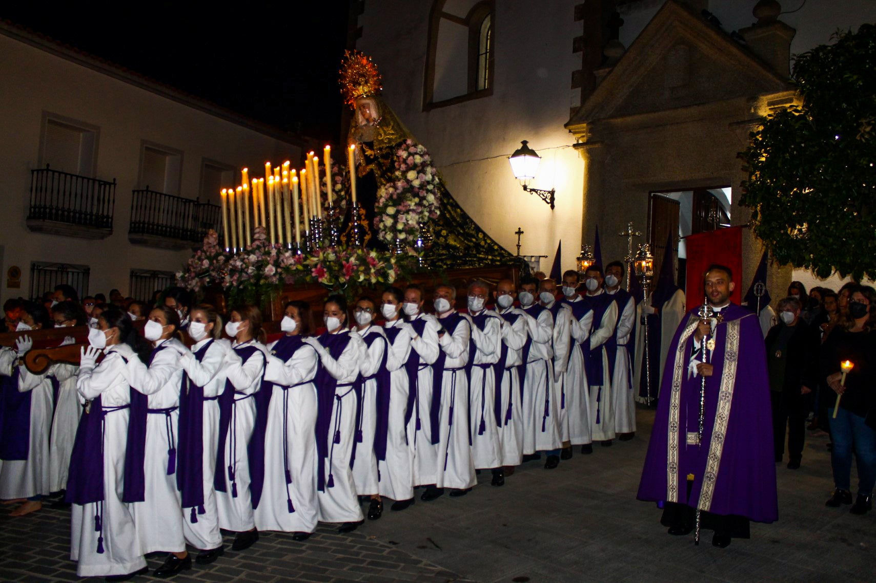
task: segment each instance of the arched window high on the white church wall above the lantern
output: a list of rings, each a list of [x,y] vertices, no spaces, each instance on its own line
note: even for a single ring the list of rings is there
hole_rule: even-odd
[[[492,95],[494,0],[435,0],[423,109]]]

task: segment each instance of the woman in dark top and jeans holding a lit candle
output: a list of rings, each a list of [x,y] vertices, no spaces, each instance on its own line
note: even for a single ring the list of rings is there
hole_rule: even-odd
[[[876,291],[867,285],[851,289],[849,309],[823,344],[822,372],[840,396],[830,408],[830,465],[836,489],[826,503],[851,504],[851,454],[858,465],[858,496],[852,514],[872,509],[876,482]],[[845,363],[845,366],[842,364]],[[851,363],[851,367],[849,364]],[[844,371],[848,371],[844,374]],[[868,425],[869,422],[869,425]]]

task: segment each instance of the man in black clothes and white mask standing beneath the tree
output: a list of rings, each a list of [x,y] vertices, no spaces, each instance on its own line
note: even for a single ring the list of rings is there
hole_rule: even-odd
[[[788,429],[788,468],[797,469],[803,456],[806,416],[812,388],[818,383],[816,332],[800,317],[801,302],[779,302],[780,322],[767,333],[767,372],[773,406],[773,438],[776,463],[785,453]]]

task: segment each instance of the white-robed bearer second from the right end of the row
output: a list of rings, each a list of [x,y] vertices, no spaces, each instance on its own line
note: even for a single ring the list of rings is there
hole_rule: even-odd
[[[614,296],[603,289],[603,270],[590,265],[584,272],[587,295],[584,303],[593,311],[593,324],[588,339],[589,350],[584,370],[590,387],[590,430],[594,441],[611,446],[614,439],[614,403],[611,395],[611,372],[614,369],[616,347],[611,343],[618,322],[618,304]]]

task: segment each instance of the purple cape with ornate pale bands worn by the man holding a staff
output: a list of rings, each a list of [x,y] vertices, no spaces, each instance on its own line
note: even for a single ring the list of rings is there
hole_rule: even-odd
[[[713,374],[706,378],[703,440],[688,445],[688,435],[699,425],[703,378],[689,377],[688,372],[695,312],[682,320],[670,345],[637,497],[774,522],[778,499],[773,422],[759,321],[735,304],[721,312],[724,320],[716,327],[709,359]],[[688,474],[694,475],[689,496]]]

